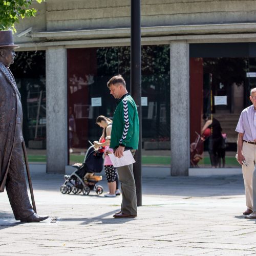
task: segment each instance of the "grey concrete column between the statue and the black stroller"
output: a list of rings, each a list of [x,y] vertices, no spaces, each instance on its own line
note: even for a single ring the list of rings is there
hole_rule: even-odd
[[[47,173],[65,173],[68,164],[67,50],[46,50]]]

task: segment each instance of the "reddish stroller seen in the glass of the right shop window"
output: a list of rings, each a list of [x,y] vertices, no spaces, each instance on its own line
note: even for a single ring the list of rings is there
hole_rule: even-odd
[[[195,133],[197,138],[195,142],[190,144],[190,164],[193,167],[199,167],[198,162],[202,159],[204,137],[201,137],[197,132]]]

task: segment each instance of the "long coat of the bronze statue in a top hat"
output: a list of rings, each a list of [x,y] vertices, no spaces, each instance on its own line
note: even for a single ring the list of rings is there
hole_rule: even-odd
[[[0,192],[5,189],[14,146],[17,96],[20,99],[15,79],[9,68],[0,62]]]

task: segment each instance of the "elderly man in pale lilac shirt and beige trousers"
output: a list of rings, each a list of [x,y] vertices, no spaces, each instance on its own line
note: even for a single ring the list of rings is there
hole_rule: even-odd
[[[236,132],[238,132],[237,160],[242,165],[247,209],[245,218],[256,219],[256,88],[251,89],[252,105],[240,115]]]

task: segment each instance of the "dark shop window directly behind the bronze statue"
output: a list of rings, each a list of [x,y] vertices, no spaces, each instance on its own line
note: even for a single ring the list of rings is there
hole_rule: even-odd
[[[23,136],[32,162],[46,162],[45,66],[45,51],[16,52],[10,66],[22,96]]]

